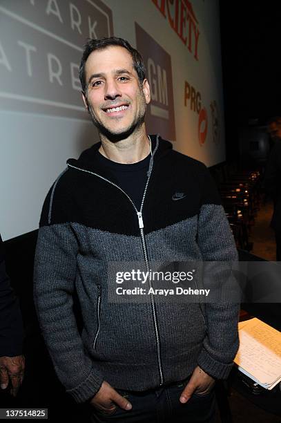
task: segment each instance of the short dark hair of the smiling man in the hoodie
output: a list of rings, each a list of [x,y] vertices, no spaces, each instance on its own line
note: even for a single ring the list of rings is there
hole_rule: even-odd
[[[119,37],[103,37],[99,39],[89,38],[84,46],[81,63],[79,66],[79,78],[82,86],[82,91],[86,93],[86,77],[85,77],[85,64],[90,53],[95,50],[104,50],[104,48],[110,46],[120,46],[126,48],[133,59],[133,66],[137,72],[139,83],[142,84],[146,77],[146,68],[144,66],[144,60],[139,52],[133,48],[126,39]]]

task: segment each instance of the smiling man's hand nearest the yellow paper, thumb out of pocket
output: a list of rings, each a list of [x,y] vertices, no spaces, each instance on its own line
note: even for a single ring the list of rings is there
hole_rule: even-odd
[[[180,402],[182,404],[187,402],[194,392],[202,395],[208,393],[214,384],[215,379],[213,377],[205,373],[199,366],[195,367],[188,384],[184,388],[184,391],[182,391]]]

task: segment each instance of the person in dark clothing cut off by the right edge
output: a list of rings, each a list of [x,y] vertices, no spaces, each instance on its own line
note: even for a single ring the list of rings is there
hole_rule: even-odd
[[[275,231],[276,261],[281,261],[281,118],[277,117],[268,124],[268,132],[274,141],[267,161],[264,185],[274,203],[271,227]]]

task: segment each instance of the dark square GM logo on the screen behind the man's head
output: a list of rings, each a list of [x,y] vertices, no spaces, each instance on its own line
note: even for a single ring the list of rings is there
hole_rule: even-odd
[[[137,50],[142,54],[151,87],[151,103],[146,113],[149,133],[159,132],[175,141],[175,113],[171,56],[135,23]]]

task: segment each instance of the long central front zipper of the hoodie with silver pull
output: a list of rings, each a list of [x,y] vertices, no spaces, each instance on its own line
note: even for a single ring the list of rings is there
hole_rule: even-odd
[[[146,186],[144,188],[144,195],[142,196],[142,203],[141,203],[141,207],[140,210],[137,210],[137,207],[135,207],[135,204],[133,203],[133,200],[128,196],[128,194],[126,194],[125,191],[123,191],[122,188],[120,188],[118,185],[116,185],[114,182],[111,182],[111,180],[104,178],[104,176],[99,175],[98,173],[95,172],[91,172],[88,171],[86,169],[81,169],[79,167],[75,167],[72,164],[68,164],[68,167],[72,167],[73,169],[77,169],[79,171],[85,172],[85,173],[90,173],[91,175],[97,176],[98,178],[101,178],[103,180],[105,180],[106,182],[108,182],[109,184],[113,185],[114,187],[116,187],[117,189],[119,189],[120,191],[122,191],[122,193],[128,198],[128,200],[130,201],[130,203],[133,205],[135,212],[137,213],[137,218],[138,218],[138,223],[139,223],[139,231],[140,231],[140,235],[141,235],[141,240],[142,240],[142,250],[144,252],[144,261],[146,263],[146,270],[149,272],[149,261],[148,261],[148,252],[147,252],[147,247],[146,247],[146,240],[145,240],[145,236],[144,236],[144,221],[142,219],[142,208],[144,206],[144,198],[146,196],[146,191],[148,188],[148,182],[151,178],[151,172],[148,174],[148,178],[146,181]],[[148,273],[149,274],[149,273]],[[149,279],[149,287],[151,288],[151,279]],[[162,371],[162,362],[161,362],[161,355],[160,355],[160,342],[159,342],[159,329],[158,329],[158,324],[157,324],[157,317],[156,317],[156,310],[155,310],[155,301],[154,301],[154,295],[151,294],[151,308],[152,308],[152,312],[153,312],[153,323],[154,323],[154,329],[155,329],[155,337],[156,337],[156,346],[157,346],[157,362],[158,362],[158,370],[159,370],[159,377],[160,377],[160,384],[159,386],[162,386],[164,383],[164,379],[163,379],[163,371]],[[99,332],[99,330],[98,330]],[[97,335],[98,332],[95,336],[95,342],[97,341]]]

